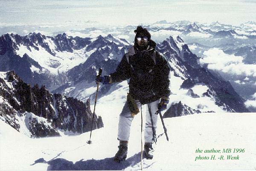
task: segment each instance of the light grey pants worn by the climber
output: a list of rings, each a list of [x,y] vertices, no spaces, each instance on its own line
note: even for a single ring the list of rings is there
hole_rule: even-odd
[[[135,100],[135,102],[137,104],[137,107],[140,109],[140,101]],[[159,104],[159,102],[160,102],[160,99],[150,103],[153,127],[155,130],[157,128],[157,117],[158,117],[158,115],[156,115],[155,113],[157,111],[157,105]],[[146,121],[145,121],[145,132],[144,132],[145,137],[144,137],[144,139],[145,139],[145,142],[152,142],[153,132],[152,132],[152,125],[151,125],[151,118],[149,115],[148,104],[145,104],[145,105],[147,105],[147,110],[146,110],[146,116],[145,116]],[[122,141],[129,140],[130,130],[131,130],[131,122],[133,119],[134,118],[131,116],[131,112],[128,107],[128,103],[126,101],[125,105],[122,109],[122,112],[119,115],[119,124],[118,124],[118,139],[119,140],[122,140]]]

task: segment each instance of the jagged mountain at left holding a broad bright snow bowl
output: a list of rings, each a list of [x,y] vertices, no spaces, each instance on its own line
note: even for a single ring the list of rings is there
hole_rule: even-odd
[[[125,39],[111,35],[105,39],[73,38],[65,33],[55,37],[41,33],[2,35],[0,71],[14,70],[29,84],[45,85],[52,91],[69,82],[67,71],[87,61],[96,49],[102,48],[105,59],[111,55],[116,58],[124,50],[122,46],[129,45]]]

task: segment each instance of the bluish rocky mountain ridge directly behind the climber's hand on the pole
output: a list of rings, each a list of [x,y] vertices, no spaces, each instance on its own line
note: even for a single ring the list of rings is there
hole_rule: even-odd
[[[114,72],[129,46],[131,45],[124,39],[114,38],[112,35],[105,38],[97,37],[87,46],[88,49],[94,49],[87,61],[69,70],[67,72],[69,82],[53,92],[86,101],[94,93],[92,90],[95,91],[96,70],[102,68],[102,75]],[[103,87],[110,89],[108,85]],[[101,96],[100,91],[99,97]]]

